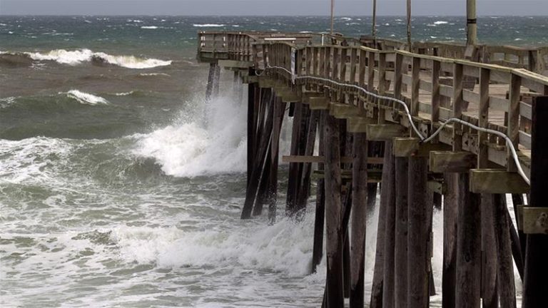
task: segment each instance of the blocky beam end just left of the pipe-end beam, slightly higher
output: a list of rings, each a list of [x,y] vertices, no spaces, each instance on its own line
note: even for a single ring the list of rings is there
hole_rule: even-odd
[[[430,171],[434,173],[467,173],[476,163],[476,155],[470,152],[430,152]]]

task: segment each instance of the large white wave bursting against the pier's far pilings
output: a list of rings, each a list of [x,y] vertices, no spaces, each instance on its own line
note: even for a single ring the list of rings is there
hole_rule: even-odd
[[[196,177],[245,170],[246,120],[243,104],[229,98],[210,102],[205,118],[141,135],[135,155],[154,158],[167,175]]]

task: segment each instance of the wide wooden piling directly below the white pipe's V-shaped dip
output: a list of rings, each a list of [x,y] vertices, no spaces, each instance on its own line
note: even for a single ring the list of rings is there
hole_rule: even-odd
[[[409,158],[407,190],[407,304],[408,307],[427,307],[429,301],[430,256],[427,242],[430,239],[428,211],[432,204],[427,197],[427,159]],[[429,209],[430,208],[430,209]]]

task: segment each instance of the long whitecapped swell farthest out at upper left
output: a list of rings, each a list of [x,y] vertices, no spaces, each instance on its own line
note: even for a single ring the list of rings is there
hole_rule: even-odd
[[[46,53],[0,51],[0,65],[30,66],[34,61],[55,61],[57,63],[76,66],[84,62],[93,64],[111,64],[123,68],[155,68],[168,66],[172,61],[156,58],[138,58],[136,56],[113,56],[103,52],[93,52],[89,49],[67,51],[55,49]]]

